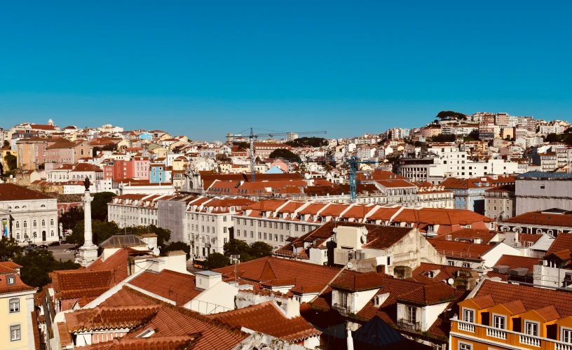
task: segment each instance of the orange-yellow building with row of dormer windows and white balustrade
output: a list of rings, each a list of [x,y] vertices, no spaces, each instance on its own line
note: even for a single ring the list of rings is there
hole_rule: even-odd
[[[572,349],[572,294],[485,280],[458,303],[451,350]]]

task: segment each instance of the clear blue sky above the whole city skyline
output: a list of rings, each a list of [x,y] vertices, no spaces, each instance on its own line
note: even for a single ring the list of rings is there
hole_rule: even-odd
[[[572,120],[571,1],[4,1],[0,127],[329,137]]]

